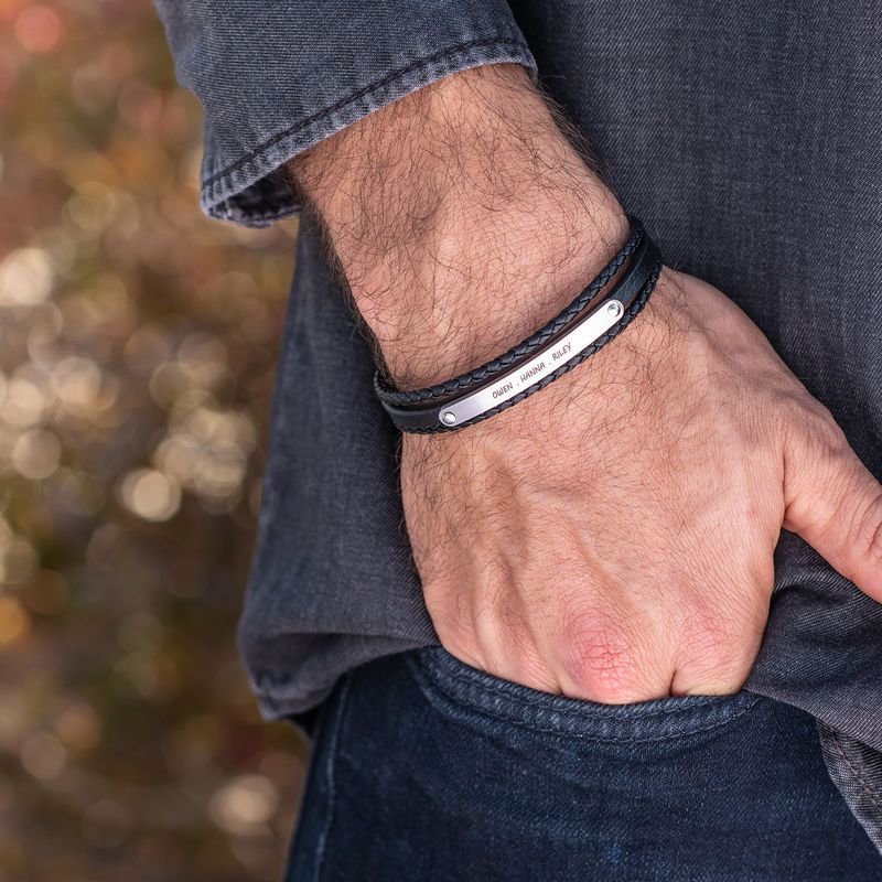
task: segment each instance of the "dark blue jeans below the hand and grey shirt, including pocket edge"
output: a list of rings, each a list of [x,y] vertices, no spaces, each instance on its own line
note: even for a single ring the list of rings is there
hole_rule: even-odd
[[[289,882],[863,882],[882,858],[810,716],[750,692],[604,706],[440,647],[343,678]]]

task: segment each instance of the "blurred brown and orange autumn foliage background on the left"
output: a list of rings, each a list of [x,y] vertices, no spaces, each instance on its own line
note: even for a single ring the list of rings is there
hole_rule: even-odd
[[[293,225],[198,209],[148,0],[0,0],[0,879],[276,880],[234,645]]]

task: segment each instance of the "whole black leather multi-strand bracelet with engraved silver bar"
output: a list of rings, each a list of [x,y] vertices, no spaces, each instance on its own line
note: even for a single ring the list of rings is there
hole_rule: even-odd
[[[379,372],[374,388],[405,432],[450,432],[474,426],[544,389],[616,337],[646,304],[662,256],[635,217],[613,259],[559,315],[503,355],[459,377],[401,391]],[[605,295],[601,292],[623,268]]]

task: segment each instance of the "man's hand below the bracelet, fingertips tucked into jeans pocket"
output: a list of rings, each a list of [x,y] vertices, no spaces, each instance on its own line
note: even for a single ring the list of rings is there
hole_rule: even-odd
[[[483,423],[404,440],[442,644],[571,698],[736,691],[782,526],[882,599],[882,488],[723,294],[665,270],[613,344]]]

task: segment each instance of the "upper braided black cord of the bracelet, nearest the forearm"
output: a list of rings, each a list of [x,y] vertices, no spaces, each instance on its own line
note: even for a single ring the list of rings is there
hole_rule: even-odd
[[[628,220],[631,222],[631,235],[612,260],[610,260],[591,281],[588,288],[585,288],[563,312],[558,313],[551,321],[542,325],[542,327],[526,340],[497,358],[486,362],[466,374],[461,374],[458,377],[435,384],[434,386],[427,386],[422,389],[396,389],[386,383],[380,376],[379,370],[377,370],[374,375],[374,391],[377,398],[394,407],[410,407],[412,405],[432,401],[435,398],[448,398],[454,392],[465,392],[476,386],[483,386],[485,381],[503,374],[515,362],[541,348],[546,341],[558,334],[561,329],[570,324],[573,319],[585,310],[588,304],[606,287],[610,279],[619,272],[625,261],[637,249],[641,241],[643,241],[645,233],[641,222],[636,217],[628,217]],[[518,398],[518,400],[520,399]],[[462,424],[465,426],[467,423]],[[461,427],[458,426],[455,428]]]

